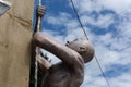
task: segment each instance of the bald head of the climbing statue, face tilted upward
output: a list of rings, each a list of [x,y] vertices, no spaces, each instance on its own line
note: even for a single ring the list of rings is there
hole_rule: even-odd
[[[85,63],[90,62],[94,57],[95,50],[87,39],[80,38],[73,41],[67,41],[67,46],[79,52]]]

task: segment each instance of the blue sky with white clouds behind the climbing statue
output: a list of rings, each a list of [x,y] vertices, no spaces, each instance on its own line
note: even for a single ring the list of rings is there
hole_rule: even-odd
[[[131,0],[73,1],[110,87],[131,87]],[[85,37],[70,0],[43,3],[47,7],[44,34],[63,45]],[[52,63],[58,62],[55,55],[48,52],[47,55]],[[95,59],[85,64],[84,72],[81,87],[108,87]]]

